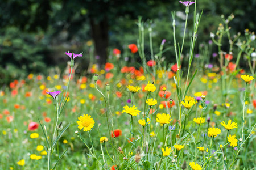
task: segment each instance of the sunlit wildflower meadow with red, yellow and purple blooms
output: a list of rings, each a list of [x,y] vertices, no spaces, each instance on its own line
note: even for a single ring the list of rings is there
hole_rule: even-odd
[[[255,169],[255,33],[230,14],[199,42],[200,1],[175,4],[170,39],[139,16],[105,62],[88,42],[2,83],[0,169]]]

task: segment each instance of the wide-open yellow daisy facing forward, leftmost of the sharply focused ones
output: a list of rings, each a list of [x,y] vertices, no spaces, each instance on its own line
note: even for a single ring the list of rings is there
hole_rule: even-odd
[[[84,116],[80,116],[79,121],[77,121],[77,124],[79,125],[78,128],[81,130],[84,128],[84,131],[90,131],[94,126],[94,120],[90,115],[84,114]]]

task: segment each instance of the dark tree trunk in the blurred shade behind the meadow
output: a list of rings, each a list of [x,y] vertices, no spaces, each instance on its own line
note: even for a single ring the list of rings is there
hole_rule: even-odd
[[[90,18],[90,27],[92,29],[92,37],[95,43],[96,55],[100,56],[98,63],[100,66],[105,65],[108,58],[108,18],[104,16],[104,18],[100,21]]]

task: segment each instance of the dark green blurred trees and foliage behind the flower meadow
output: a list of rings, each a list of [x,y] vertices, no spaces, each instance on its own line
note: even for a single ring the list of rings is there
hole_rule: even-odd
[[[216,31],[222,14],[228,16],[233,13],[236,16],[230,23],[233,32],[243,32],[246,28],[255,31],[255,3],[254,0],[197,1],[197,12],[204,9],[197,43],[209,40],[209,33]],[[92,42],[94,56],[100,56],[98,63],[102,65],[106,62],[110,49],[122,50],[128,44],[136,44],[136,21],[139,15],[143,16],[144,21],[153,21],[153,42],[156,49],[162,39],[167,39],[168,46],[173,46],[171,11],[177,11],[176,23],[181,28],[184,24],[184,10],[184,6],[178,1],[167,0],[2,0],[1,83],[36,71],[47,74],[47,67],[68,61],[63,52],[69,50],[84,52],[86,55]],[[193,7],[190,11],[193,11]],[[188,26],[192,27],[192,22]],[[183,30],[177,30],[179,40]],[[189,40],[188,36],[187,39]],[[150,51],[147,44],[145,49]],[[171,50],[166,56],[167,61],[174,58]]]

